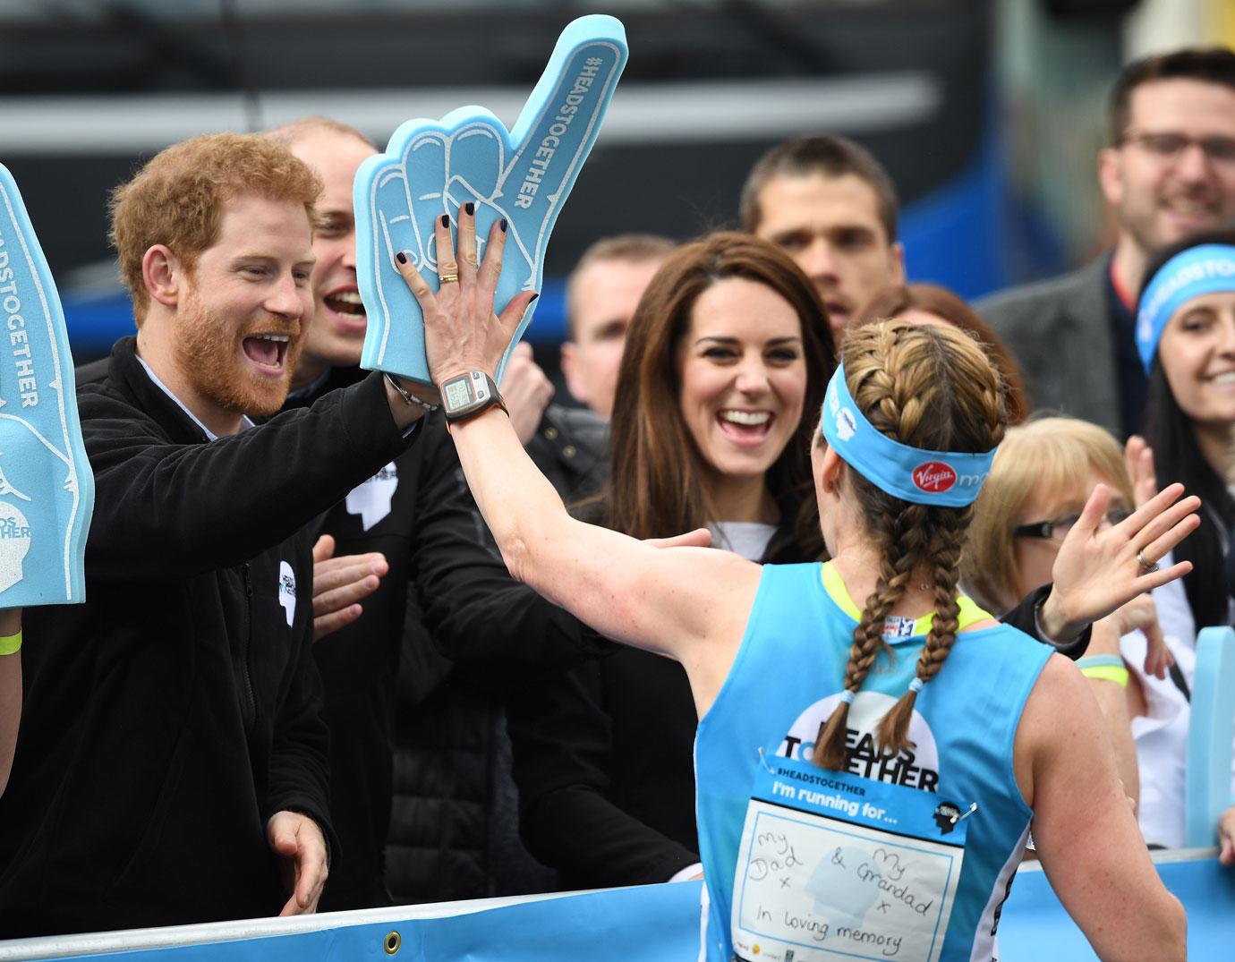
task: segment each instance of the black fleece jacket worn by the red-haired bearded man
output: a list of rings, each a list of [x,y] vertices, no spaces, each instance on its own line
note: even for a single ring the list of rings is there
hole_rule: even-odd
[[[337,848],[301,530],[409,443],[375,377],[207,442],[133,338],[95,373],[88,600],[26,613],[0,937],[277,914],[279,810]]]

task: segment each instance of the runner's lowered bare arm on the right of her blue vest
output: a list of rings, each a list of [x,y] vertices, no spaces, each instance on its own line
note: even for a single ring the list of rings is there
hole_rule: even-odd
[[[1074,664],[1052,655],[1016,730],[1016,782],[1060,901],[1108,962],[1187,957],[1183,906],[1158,877]]]

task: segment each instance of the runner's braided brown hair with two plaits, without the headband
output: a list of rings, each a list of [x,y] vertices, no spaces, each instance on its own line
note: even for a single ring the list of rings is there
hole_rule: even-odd
[[[998,374],[981,347],[958,331],[883,322],[852,332],[842,347],[846,383],[876,430],[894,441],[936,451],[988,451],[1003,438],[1005,414]],[[850,472],[867,532],[882,567],[853,630],[845,692],[857,694],[876,656],[887,646],[884,619],[904,596],[915,572],[932,572],[935,619],[918,658],[916,678],[930,682],[956,642],[961,551],[973,508],[903,501],[857,472]],[[881,751],[910,746],[909,722],[916,701],[911,687],[882,719]],[[847,766],[850,698],[820,725],[814,759],[824,768]]]

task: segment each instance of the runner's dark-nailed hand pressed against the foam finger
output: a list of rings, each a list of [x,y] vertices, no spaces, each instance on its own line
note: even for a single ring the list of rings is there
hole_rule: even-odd
[[[540,295],[521,291],[510,300],[500,316],[493,312],[493,296],[501,274],[501,253],[506,246],[505,221],[493,225],[484,261],[479,263],[475,210],[471,204],[459,209],[457,247],[451,238],[448,217],[438,217],[435,231],[437,270],[445,277],[457,277],[456,280],[443,283],[436,294],[412,266],[406,252],[395,257],[399,273],[408,282],[425,315],[429,372],[437,385],[468,370],[493,374],[524,312]]]

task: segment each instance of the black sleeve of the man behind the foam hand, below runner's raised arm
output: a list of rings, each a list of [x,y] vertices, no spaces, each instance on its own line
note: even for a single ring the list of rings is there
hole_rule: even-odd
[[[425,625],[453,661],[490,673],[537,672],[611,642],[510,577],[472,500],[454,445],[426,419],[411,567]]]

